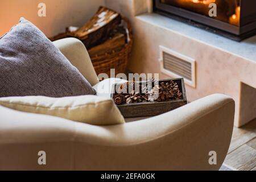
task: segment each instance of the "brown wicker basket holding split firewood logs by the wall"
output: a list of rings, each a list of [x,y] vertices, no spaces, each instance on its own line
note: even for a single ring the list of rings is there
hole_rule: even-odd
[[[131,31],[131,25],[128,19],[122,18],[127,28],[127,42],[122,49],[118,51],[106,52],[103,55],[95,55],[90,57],[93,63],[93,67],[98,74],[106,73],[110,76],[110,69],[115,69],[115,74],[125,73],[127,63],[131,53],[131,46],[133,44],[133,35]]]

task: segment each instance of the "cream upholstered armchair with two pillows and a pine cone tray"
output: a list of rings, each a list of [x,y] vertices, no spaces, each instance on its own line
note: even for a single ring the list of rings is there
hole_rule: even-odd
[[[92,85],[98,78],[83,44],[55,42]],[[232,137],[234,101],[214,94],[123,125],[93,126],[0,106],[0,169],[217,170]],[[38,152],[46,152],[46,165]],[[216,151],[217,164],[209,164]]]

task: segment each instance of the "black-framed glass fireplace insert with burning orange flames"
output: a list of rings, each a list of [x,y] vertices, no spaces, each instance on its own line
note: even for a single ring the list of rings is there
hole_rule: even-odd
[[[255,0],[152,0],[156,13],[233,40],[256,35]],[[214,3],[214,4],[213,4]],[[216,5],[216,16],[210,16]]]

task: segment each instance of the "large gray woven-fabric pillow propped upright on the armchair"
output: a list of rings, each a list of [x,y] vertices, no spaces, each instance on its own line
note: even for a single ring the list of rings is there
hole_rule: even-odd
[[[28,20],[0,38],[0,97],[95,94],[81,73]]]

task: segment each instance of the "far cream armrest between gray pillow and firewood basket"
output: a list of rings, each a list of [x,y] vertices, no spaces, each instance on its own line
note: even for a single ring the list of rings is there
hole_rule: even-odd
[[[80,71],[92,86],[99,82],[90,56],[79,39],[60,39],[53,42],[53,44],[60,49],[63,55],[67,57],[71,64]]]

